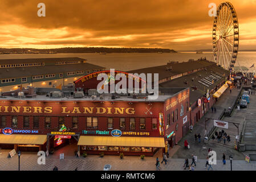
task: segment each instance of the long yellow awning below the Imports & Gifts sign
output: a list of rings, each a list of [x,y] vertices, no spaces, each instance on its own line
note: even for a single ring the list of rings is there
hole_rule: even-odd
[[[165,147],[160,137],[95,137],[80,136],[79,146]]]

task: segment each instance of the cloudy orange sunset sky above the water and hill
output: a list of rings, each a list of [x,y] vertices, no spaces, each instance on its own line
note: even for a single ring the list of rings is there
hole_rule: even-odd
[[[38,3],[46,17],[38,17]],[[215,0],[0,0],[0,47],[148,47],[212,49]],[[239,49],[256,49],[256,1],[237,11]]]

